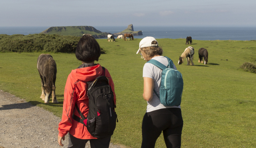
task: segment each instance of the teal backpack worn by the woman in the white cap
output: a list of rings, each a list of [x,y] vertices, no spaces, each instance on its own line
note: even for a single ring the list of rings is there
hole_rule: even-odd
[[[163,70],[161,75],[160,97],[156,93],[155,89],[154,92],[163,105],[179,106],[181,102],[181,95],[183,92],[182,74],[178,70],[173,69],[172,60],[168,57],[166,58],[168,59],[169,62],[167,67],[154,59],[151,59],[147,62],[154,64],[156,67]]]

